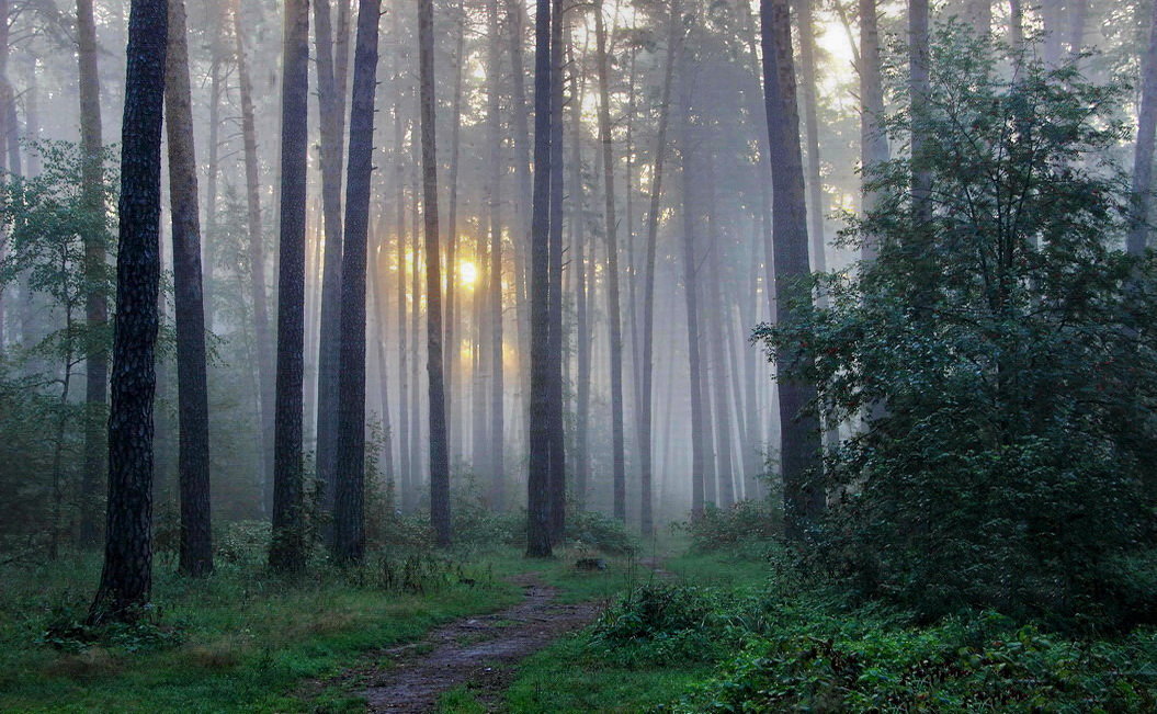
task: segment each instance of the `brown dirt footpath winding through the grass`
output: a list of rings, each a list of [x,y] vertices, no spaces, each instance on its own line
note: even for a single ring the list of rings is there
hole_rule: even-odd
[[[513,665],[595,619],[602,603],[562,605],[558,592],[531,579],[518,581],[525,598],[501,612],[457,620],[425,640],[385,650],[392,667],[359,672],[370,712],[433,712],[439,697],[469,684],[493,708],[510,685]]]

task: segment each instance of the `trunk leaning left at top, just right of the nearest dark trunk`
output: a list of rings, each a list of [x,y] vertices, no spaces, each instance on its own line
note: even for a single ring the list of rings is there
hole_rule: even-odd
[[[209,518],[209,399],[205,361],[197,154],[189,89],[185,0],[169,0],[164,110],[169,139],[174,304],[177,322],[177,402],[180,417],[180,572],[213,571]]]

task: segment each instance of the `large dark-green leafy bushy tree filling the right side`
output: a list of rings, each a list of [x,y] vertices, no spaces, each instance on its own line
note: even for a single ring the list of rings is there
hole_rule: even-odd
[[[756,334],[819,385],[812,408],[864,421],[827,459],[839,502],[812,533],[860,592],[927,617],[1127,624],[1157,592],[1118,597],[1121,559],[1154,538],[1157,272],[1117,249],[1123,90],[1000,50],[939,32],[927,149],[869,177],[879,208],[846,235],[878,258],[820,275],[810,319]],[[889,120],[898,142],[911,119]],[[918,169],[929,223],[913,223]]]

